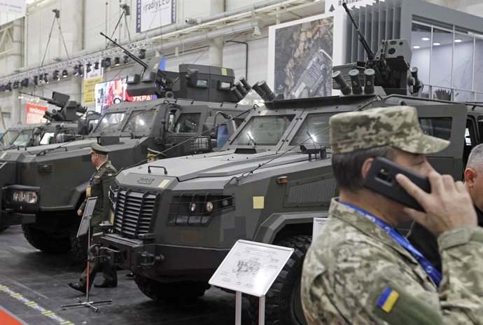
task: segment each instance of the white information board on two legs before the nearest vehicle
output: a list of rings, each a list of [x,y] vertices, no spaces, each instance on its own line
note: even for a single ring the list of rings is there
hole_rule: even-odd
[[[241,293],[260,298],[258,324],[265,324],[265,294],[293,248],[238,240],[209,280],[209,284],[236,291],[235,325],[241,325]]]

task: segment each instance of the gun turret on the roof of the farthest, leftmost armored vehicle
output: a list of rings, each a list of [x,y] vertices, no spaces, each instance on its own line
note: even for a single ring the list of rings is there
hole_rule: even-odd
[[[49,104],[60,107],[60,110],[52,109],[52,111],[46,111],[43,118],[46,120],[55,120],[57,122],[73,122],[78,120],[80,116],[77,113],[85,113],[87,109],[81,106],[80,103],[69,100],[70,96],[62,94],[62,92],[52,92],[52,98],[47,98],[39,95],[29,94],[27,92],[20,92],[20,94],[29,95],[40,98],[48,102]]]

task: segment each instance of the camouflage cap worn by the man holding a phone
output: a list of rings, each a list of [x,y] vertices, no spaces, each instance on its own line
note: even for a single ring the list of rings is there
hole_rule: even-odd
[[[409,153],[436,153],[449,141],[423,133],[412,106],[339,113],[330,118],[332,153],[393,146]]]

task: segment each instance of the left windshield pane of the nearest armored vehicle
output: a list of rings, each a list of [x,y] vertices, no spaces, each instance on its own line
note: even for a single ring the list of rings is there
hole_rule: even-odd
[[[294,116],[253,116],[231,144],[274,146],[280,141]]]

